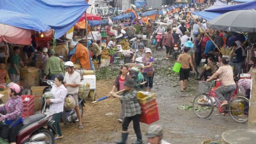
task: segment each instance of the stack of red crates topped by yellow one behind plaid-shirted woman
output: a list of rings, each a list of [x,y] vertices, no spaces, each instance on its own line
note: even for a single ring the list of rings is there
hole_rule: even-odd
[[[158,105],[155,94],[139,91],[138,100],[141,106],[140,122],[150,125],[159,120]]]

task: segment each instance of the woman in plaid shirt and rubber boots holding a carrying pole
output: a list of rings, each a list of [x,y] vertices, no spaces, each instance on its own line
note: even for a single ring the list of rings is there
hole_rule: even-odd
[[[114,92],[109,93],[113,97],[118,98],[125,103],[125,118],[122,124],[122,140],[116,143],[125,144],[128,137],[128,126],[132,121],[134,132],[137,136],[137,140],[132,144],[142,144],[143,142],[140,131],[141,107],[138,101],[137,91],[134,89],[135,82],[132,79],[128,79],[125,81],[124,85],[125,92],[122,93],[122,95],[117,95]]]

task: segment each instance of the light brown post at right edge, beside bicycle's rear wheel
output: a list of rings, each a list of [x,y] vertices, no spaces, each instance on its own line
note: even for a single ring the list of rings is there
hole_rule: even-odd
[[[256,129],[256,70],[252,72],[252,86],[248,117],[248,128]]]

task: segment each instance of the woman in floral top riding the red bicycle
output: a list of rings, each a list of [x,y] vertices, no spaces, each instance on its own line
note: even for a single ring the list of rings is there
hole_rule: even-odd
[[[217,79],[217,81],[221,80],[223,85],[216,88],[214,92],[219,100],[222,101],[220,107],[223,107],[228,104],[227,100],[231,97],[237,86],[234,81],[232,67],[228,65],[229,59],[227,57],[223,57],[221,61],[222,66],[219,67],[216,73],[214,73],[209,79],[207,79],[207,82],[215,79],[220,75],[220,79]]]

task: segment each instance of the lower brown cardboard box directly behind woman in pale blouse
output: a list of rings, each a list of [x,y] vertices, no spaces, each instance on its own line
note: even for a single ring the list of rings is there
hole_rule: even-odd
[[[40,104],[40,98],[43,95],[43,90],[47,86],[32,86],[31,87],[31,93],[32,95],[35,96],[35,110],[40,110],[41,109],[41,104]]]

